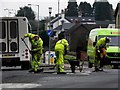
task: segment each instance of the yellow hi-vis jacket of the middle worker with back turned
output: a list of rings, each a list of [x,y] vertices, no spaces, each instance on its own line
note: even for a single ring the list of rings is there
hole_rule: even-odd
[[[61,39],[59,41],[57,41],[56,45],[55,45],[55,51],[63,51],[65,52],[65,50],[69,50],[69,44],[68,41],[66,39]]]

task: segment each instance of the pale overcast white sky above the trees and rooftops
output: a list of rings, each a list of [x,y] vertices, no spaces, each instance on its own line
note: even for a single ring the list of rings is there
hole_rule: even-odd
[[[59,11],[67,8],[69,0],[59,0]],[[86,1],[93,5],[95,0],[76,0],[79,5],[80,2]],[[116,9],[119,0],[108,0],[110,4],[112,4],[113,9]],[[52,7],[52,16],[58,13],[58,0],[0,0],[0,16],[14,16],[14,14],[19,10],[20,7],[28,6],[28,4],[32,4],[31,8],[35,12],[36,17],[38,15],[38,7],[39,5],[39,18],[42,19],[44,17],[49,16],[49,7]],[[7,9],[7,10],[5,10]],[[12,13],[8,13],[8,10]]]

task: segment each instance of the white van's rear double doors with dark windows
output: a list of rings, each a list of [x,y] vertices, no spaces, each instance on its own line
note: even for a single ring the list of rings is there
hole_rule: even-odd
[[[19,30],[17,19],[0,20],[0,52],[18,53],[19,52]]]

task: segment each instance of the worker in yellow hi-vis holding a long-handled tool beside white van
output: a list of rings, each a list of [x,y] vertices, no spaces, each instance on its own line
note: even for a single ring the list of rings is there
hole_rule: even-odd
[[[25,34],[24,38],[29,37],[29,40],[31,42],[31,51],[30,53],[32,54],[32,69],[29,70],[29,72],[39,72],[41,70],[39,70],[39,65],[41,62],[41,57],[42,57],[42,50],[43,50],[43,41],[42,39],[35,34]]]

